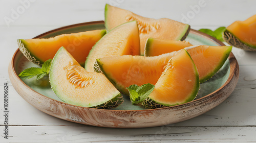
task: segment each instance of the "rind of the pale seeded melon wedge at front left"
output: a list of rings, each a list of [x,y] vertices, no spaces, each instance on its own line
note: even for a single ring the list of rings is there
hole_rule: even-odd
[[[99,103],[99,105],[96,105],[96,106],[90,106],[90,105],[82,105],[82,104],[74,104],[72,102],[66,102],[65,99],[63,100],[63,98],[60,96],[62,93],[58,91],[58,85],[54,83],[54,81],[52,81],[52,70],[54,70],[54,65],[55,64],[58,64],[58,62],[56,63],[56,61],[58,61],[58,55],[61,53],[62,50],[66,50],[63,46],[60,47],[60,49],[57,51],[56,55],[54,56],[53,58],[53,61],[52,61],[52,65],[51,65],[51,68],[50,68],[50,74],[49,74],[49,80],[50,80],[50,85],[51,85],[51,88],[52,90],[54,91],[54,93],[56,94],[56,96],[62,100],[63,102],[65,103],[68,103],[68,104],[72,104],[72,105],[76,105],[76,106],[82,106],[82,107],[90,107],[90,108],[97,108],[97,109],[109,109],[109,108],[114,108],[114,107],[117,107],[119,106],[121,103],[123,103],[123,98],[122,98],[122,94],[121,93],[117,93],[116,95],[113,94],[113,98],[111,100],[108,100],[106,102],[103,101],[103,103]],[[61,55],[60,55],[61,56]],[[57,59],[56,59],[57,58]],[[56,59],[56,60],[55,60]]]

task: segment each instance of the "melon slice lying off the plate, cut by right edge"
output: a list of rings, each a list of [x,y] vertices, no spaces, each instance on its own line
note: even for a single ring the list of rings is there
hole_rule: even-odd
[[[235,21],[226,28],[223,39],[245,51],[256,51],[256,14],[244,21]]]

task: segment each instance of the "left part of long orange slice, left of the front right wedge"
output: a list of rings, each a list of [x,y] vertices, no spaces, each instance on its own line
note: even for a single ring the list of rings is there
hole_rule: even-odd
[[[120,92],[129,95],[125,89],[130,85],[156,84],[169,59],[177,52],[155,57],[117,56],[100,58],[95,62],[95,71],[102,72]]]

